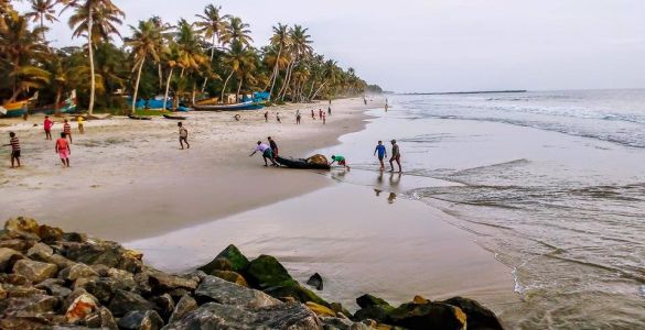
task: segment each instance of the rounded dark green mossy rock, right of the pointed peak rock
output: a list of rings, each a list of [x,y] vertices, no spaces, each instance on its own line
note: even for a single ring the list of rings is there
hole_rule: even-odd
[[[293,280],[277,258],[265,254],[250,262],[246,275],[250,284],[259,289],[281,286],[288,280]]]

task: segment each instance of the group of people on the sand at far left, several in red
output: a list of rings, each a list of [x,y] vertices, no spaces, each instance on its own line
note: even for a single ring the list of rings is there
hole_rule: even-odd
[[[80,134],[85,133],[85,119],[82,116],[76,117],[76,123],[78,125],[78,132]],[[45,116],[45,120],[43,121],[43,128],[45,131],[45,141],[51,141],[52,139],[52,128],[54,127],[55,122],[50,119],[49,116]],[[68,140],[68,141],[67,141]],[[69,155],[72,154],[72,124],[69,120],[65,119],[63,121],[63,131],[61,132],[61,138],[56,140],[54,144],[54,152],[58,154],[61,157],[61,162],[63,163],[63,167],[69,167]],[[11,168],[20,167],[20,140],[18,139],[15,132],[9,132],[9,144],[4,144],[3,146],[11,146]]]

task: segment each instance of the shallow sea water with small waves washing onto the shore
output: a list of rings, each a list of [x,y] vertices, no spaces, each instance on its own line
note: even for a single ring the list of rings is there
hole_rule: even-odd
[[[388,101],[321,151],[352,167],[333,177],[421,200],[474,232],[512,270],[524,300],[502,308],[513,328],[645,327],[645,90]],[[393,139],[396,186],[379,182],[374,157]]]

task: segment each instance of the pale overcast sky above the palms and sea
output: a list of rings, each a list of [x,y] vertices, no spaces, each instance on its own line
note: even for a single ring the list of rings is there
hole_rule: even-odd
[[[112,1],[127,24],[215,3],[258,46],[277,22],[302,24],[316,52],[395,91],[645,88],[644,0]],[[49,38],[69,35],[58,23]]]

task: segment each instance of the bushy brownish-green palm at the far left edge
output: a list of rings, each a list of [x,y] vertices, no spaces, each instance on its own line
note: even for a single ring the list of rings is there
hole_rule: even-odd
[[[41,88],[49,81],[49,74],[39,67],[36,61],[44,59],[47,47],[42,40],[42,29],[29,29],[25,16],[9,15],[6,29],[0,29],[0,54],[8,64],[11,78],[10,102],[24,91]]]

